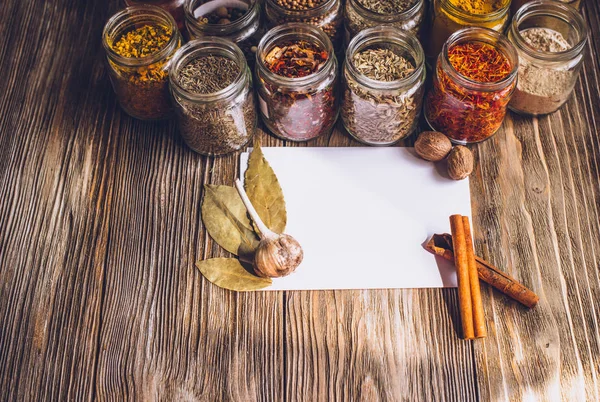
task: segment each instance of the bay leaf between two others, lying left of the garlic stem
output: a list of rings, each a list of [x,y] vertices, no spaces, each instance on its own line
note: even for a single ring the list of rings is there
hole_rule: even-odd
[[[210,237],[221,247],[251,261],[259,239],[234,187],[204,185],[202,222]]]

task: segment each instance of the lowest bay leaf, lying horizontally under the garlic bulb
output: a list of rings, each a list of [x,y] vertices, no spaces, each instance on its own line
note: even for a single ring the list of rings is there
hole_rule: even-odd
[[[229,290],[259,290],[273,283],[246,271],[236,258],[211,258],[196,262],[196,266],[210,282]]]

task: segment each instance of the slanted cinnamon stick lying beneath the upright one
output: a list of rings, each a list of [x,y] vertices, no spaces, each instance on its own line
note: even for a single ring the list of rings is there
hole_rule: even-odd
[[[448,261],[454,261],[452,236],[448,233],[433,235],[427,242],[425,248]],[[475,262],[477,264],[477,274],[479,279],[519,303],[529,308],[535,307],[539,297],[532,290],[528,289],[516,279],[505,274],[481,257],[475,256]]]

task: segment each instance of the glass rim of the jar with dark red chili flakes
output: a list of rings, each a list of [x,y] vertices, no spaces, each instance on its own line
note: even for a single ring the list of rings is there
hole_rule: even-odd
[[[315,71],[312,74],[309,74],[305,77],[284,77],[279,74],[275,74],[271,70],[269,70],[263,61],[263,54],[267,54],[267,50],[275,45],[278,40],[281,39],[282,35],[286,34],[288,31],[293,32],[294,30],[300,30],[301,32],[296,32],[297,36],[311,36],[312,39],[316,39],[321,47],[328,53],[328,58],[325,61],[323,67]],[[335,69],[335,65],[337,64],[337,59],[335,53],[333,51],[333,44],[331,43],[331,39],[321,30],[313,25],[305,24],[302,22],[289,22],[287,24],[278,25],[275,28],[270,29],[260,40],[258,43],[258,49],[256,50],[256,68],[257,72],[260,72],[265,77],[268,77],[270,80],[277,81],[277,83],[284,87],[294,87],[296,88],[298,85],[310,85],[318,82],[323,75],[329,74],[332,69]]]

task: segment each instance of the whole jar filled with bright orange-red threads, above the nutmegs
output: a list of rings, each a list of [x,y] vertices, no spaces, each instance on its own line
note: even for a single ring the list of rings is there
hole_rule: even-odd
[[[433,88],[425,99],[425,118],[456,144],[490,138],[502,125],[515,90],[517,51],[491,29],[454,33],[440,53]]]

